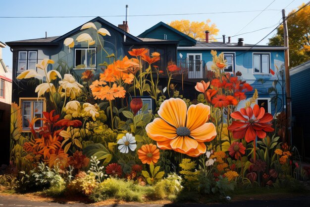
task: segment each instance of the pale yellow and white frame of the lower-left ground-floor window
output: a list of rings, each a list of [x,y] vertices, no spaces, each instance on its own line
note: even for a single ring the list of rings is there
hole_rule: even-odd
[[[41,114],[41,118],[43,118],[43,112],[46,111],[46,99],[45,98],[19,98],[19,106],[21,109],[21,115],[22,115],[22,131],[23,132],[30,132],[30,128],[29,127],[23,127],[24,126],[24,110],[23,110],[23,103],[24,102],[30,102],[31,103],[31,113],[30,113],[30,120],[31,121],[34,118],[34,103],[35,102],[42,102],[42,114]],[[41,126],[43,126],[43,121],[41,121]],[[35,127],[34,129],[39,129],[40,127]]]

